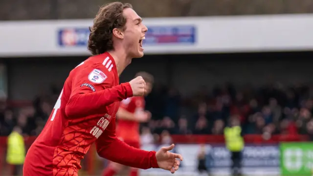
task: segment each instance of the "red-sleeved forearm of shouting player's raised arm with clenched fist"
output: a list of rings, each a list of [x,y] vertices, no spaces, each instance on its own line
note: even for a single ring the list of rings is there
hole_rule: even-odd
[[[132,97],[133,92],[129,83],[123,83],[98,92],[76,94],[67,102],[65,112],[68,118],[78,118],[94,112],[98,114],[106,106],[116,101]]]

